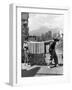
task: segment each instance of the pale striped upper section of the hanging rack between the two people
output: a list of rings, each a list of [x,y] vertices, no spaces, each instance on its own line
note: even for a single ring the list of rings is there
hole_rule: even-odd
[[[30,41],[28,43],[28,49],[29,52],[32,54],[44,54],[46,53],[46,46],[50,44],[50,42],[53,40],[49,41],[41,41],[41,42],[35,42],[35,41]],[[48,47],[49,49],[49,47]]]

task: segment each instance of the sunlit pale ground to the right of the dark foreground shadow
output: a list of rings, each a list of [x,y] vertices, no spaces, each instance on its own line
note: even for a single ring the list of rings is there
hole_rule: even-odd
[[[63,66],[48,68],[48,66],[41,66],[37,72],[37,75],[62,75]]]

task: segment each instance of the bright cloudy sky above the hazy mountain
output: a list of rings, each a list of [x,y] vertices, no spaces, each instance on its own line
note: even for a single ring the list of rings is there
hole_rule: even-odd
[[[62,28],[64,26],[64,15],[53,14],[29,14],[29,30],[39,29],[41,26],[48,28]]]

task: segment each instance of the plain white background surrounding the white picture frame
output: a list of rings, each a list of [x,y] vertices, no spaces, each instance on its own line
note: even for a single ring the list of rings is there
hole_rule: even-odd
[[[48,84],[48,85],[26,85],[23,87],[11,87],[9,86],[9,4],[21,3],[25,6],[60,6],[69,7],[71,9],[70,24],[72,24],[72,0],[0,0],[0,90],[10,89],[25,89],[25,90],[53,90],[53,89],[71,89],[71,83],[62,84]],[[72,29],[72,26],[70,26]],[[69,29],[67,37],[67,59],[72,59],[72,30]],[[72,61],[71,61],[72,63]],[[70,64],[70,66],[72,66]],[[72,67],[71,67],[72,68]],[[72,70],[71,70],[72,71]],[[72,73],[71,73],[72,75]],[[71,78],[72,81],[72,78]]]

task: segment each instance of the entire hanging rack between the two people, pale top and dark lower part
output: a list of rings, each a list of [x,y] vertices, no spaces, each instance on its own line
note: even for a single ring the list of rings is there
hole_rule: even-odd
[[[48,54],[49,44],[51,41],[41,41],[41,42],[29,41],[27,42],[29,54],[31,56],[29,60],[31,61],[32,64],[39,64],[39,65],[46,64],[45,55]]]

